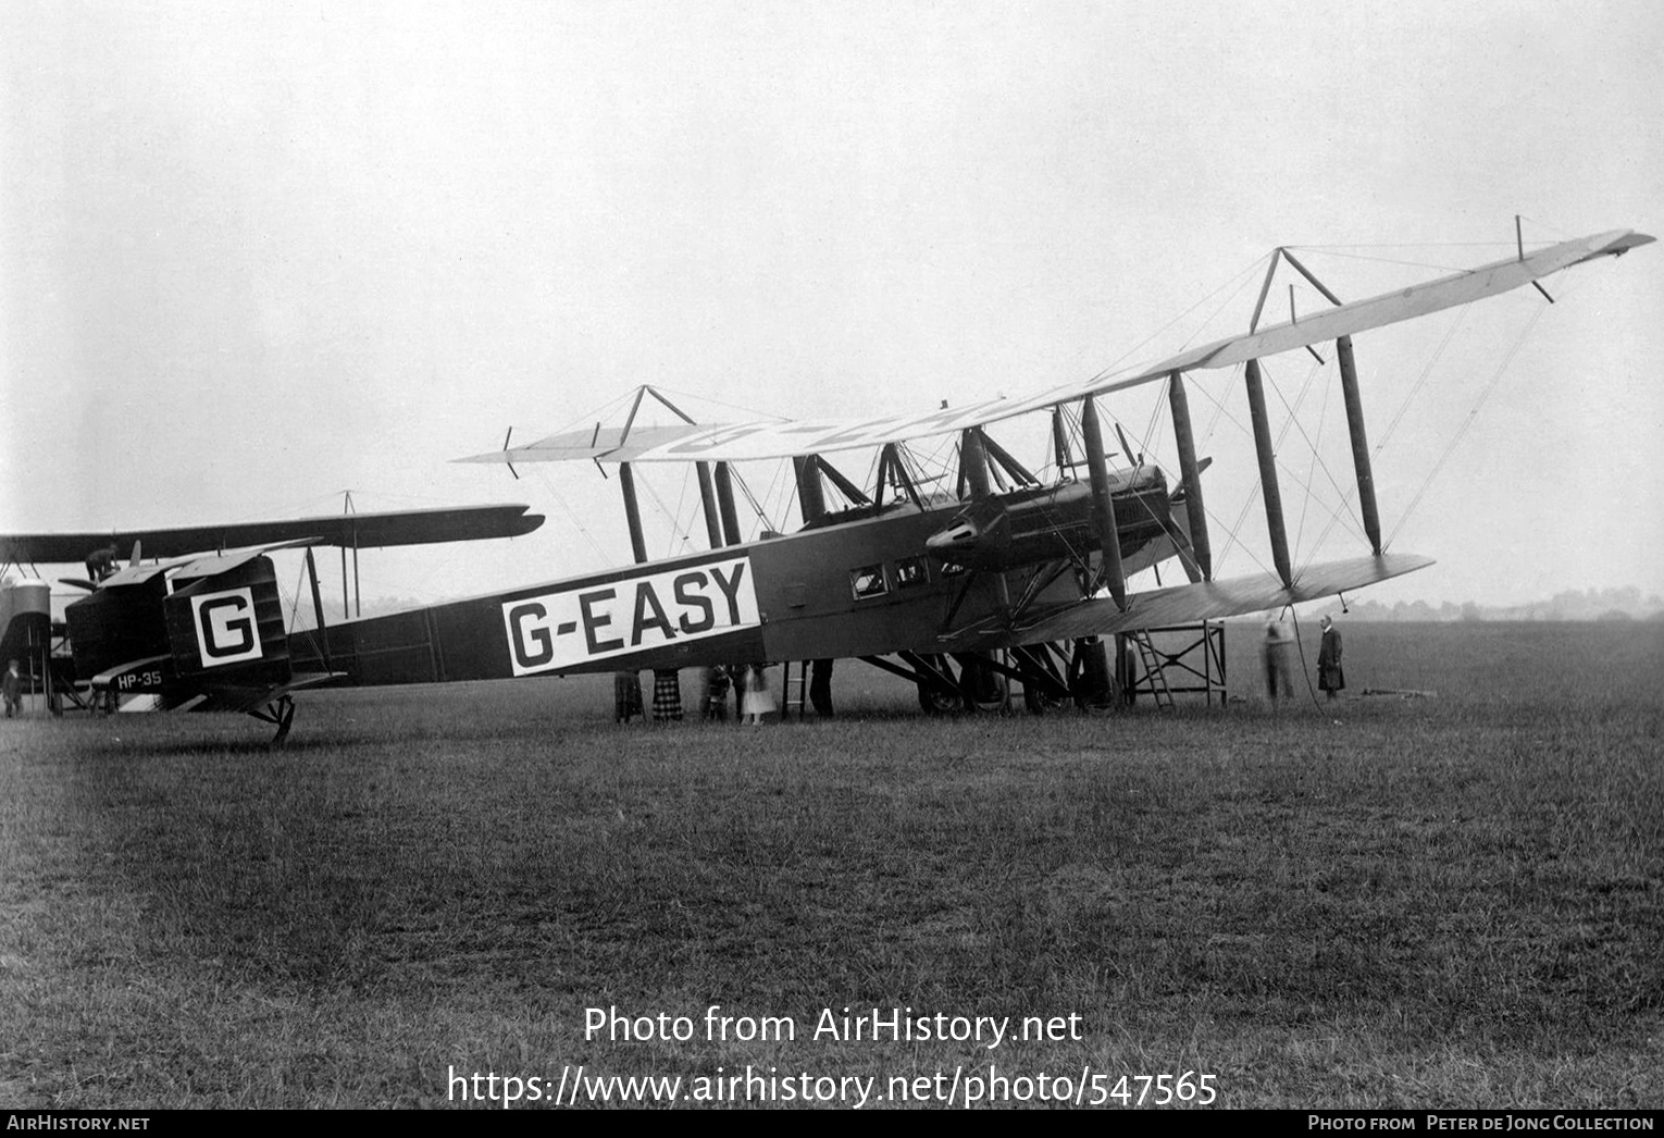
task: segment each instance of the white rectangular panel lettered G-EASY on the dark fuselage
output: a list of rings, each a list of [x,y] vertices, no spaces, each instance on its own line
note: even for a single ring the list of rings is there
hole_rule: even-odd
[[[503,604],[516,675],[559,672],[759,622],[749,557],[644,571]]]

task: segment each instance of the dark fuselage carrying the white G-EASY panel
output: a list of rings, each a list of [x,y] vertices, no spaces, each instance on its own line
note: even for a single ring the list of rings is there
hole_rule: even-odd
[[[1165,506],[1165,496],[1163,496]],[[697,667],[745,661],[947,652],[952,627],[997,619],[1013,597],[1072,601],[1057,562],[973,571],[930,556],[963,502],[882,512],[702,554],[296,632],[298,670],[356,684]],[[1130,522],[1123,556],[1160,527]],[[1161,554],[1156,554],[1161,556]],[[1050,552],[1047,554],[1050,557]],[[1045,574],[1045,587],[1033,577]]]

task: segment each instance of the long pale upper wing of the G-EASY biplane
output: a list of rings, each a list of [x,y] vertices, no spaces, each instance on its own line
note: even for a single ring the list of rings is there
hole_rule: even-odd
[[[900,414],[882,419],[820,419],[805,423],[732,423],[724,426],[639,428],[622,438],[619,431],[574,431],[551,436],[527,446],[491,454],[476,454],[459,463],[547,463],[562,459],[599,459],[604,463],[691,463],[774,459],[792,454],[825,454],[887,443],[902,443],[929,434],[945,434],[965,428],[998,423],[1012,416],[1040,411],[1088,394],[1120,391],[1161,379],[1173,371],[1230,368],[1245,359],[1273,356],[1340,336],[1381,328],[1403,319],[1498,296],[1559,273],[1572,265],[1599,256],[1619,256],[1647,245],[1654,238],[1632,230],[1612,230],[1576,241],[1562,241],[1528,256],[1508,258],[1451,276],[1413,284],[1369,299],[1340,304],[1320,313],[1241,336],[1191,348],[1170,359],[1143,364],[1117,374],[1100,374],[1063,384],[1023,399],[983,399],[963,408],[925,414]]]

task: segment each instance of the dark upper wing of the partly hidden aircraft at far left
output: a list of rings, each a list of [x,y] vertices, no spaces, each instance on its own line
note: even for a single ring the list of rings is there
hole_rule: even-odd
[[[115,546],[125,556],[135,541],[141,542],[146,557],[180,557],[216,549],[253,546],[271,549],[288,542],[379,549],[383,546],[518,537],[542,524],[542,516],[529,514],[529,506],[459,506],[178,529],[3,534],[0,536],[0,564],[13,561],[67,566],[83,561],[88,552],[105,546]]]

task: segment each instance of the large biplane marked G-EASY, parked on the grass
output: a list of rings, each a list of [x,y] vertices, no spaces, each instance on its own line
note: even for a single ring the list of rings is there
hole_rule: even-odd
[[[616,468],[634,566],[293,637],[268,631],[271,621],[258,614],[251,586],[226,576],[233,569],[205,577],[175,569],[173,591],[155,586],[148,597],[156,612],[150,636],[160,644],[166,634],[166,659],[195,684],[215,674],[246,675],[250,692],[280,692],[283,700],[295,675],[371,685],[832,657],[864,659],[910,679],[929,709],[975,702],[990,677],[1022,684],[1032,710],[1095,697],[1092,689],[1107,675],[1102,637],[1316,601],[1431,564],[1383,549],[1353,336],[1528,284],[1548,298],[1544,278],[1652,240],[1616,230],[1531,253],[1521,245],[1516,256],[1351,303],[1280,250],[1276,256],[1331,308],[1260,328],[1268,271],[1243,334],[1020,399],[922,414],[697,424],[664,401],[681,423],[637,426],[637,393],[621,428],[594,424],[513,448],[506,439],[499,451],[458,459],[511,471],[539,461]],[[1368,549],[1296,572],[1260,359],[1320,344],[1333,344],[1338,359]],[[1213,576],[1206,459],[1196,454],[1185,376],[1238,366],[1273,569],[1221,581]],[[1171,482],[1127,444],[1132,464],[1108,463],[1098,403],[1145,384],[1166,386],[1178,451]],[[988,433],[1022,414],[1052,418],[1057,476],[1050,481],[1035,477]],[[952,491],[912,473],[907,443],[930,436],[957,436]],[[872,486],[855,484],[832,461],[857,449],[879,453]],[[762,459],[792,461],[802,526],[744,541],[732,468]],[[654,463],[694,466],[707,551],[647,559],[634,468]],[[830,507],[827,491],[844,504]],[[1128,589],[1142,569],[1173,561],[1185,584]],[[231,599],[241,607],[216,607]],[[285,717],[281,730],[286,725]]]

